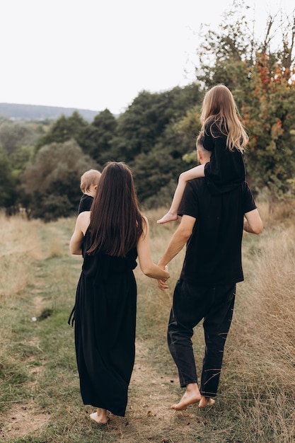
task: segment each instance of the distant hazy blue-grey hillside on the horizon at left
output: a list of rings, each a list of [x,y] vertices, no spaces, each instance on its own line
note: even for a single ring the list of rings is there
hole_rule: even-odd
[[[57,120],[57,118],[59,118],[61,115],[69,117],[72,113],[74,113],[75,110],[88,122],[91,122],[99,113],[99,111],[88,109],[0,103],[0,115],[13,120]]]

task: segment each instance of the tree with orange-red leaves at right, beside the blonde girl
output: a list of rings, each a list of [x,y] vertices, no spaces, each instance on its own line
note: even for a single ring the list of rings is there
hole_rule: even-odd
[[[295,176],[295,81],[282,62],[257,54],[251,83],[253,95],[243,114],[250,134],[246,165],[250,183],[266,187],[272,200],[284,195]]]

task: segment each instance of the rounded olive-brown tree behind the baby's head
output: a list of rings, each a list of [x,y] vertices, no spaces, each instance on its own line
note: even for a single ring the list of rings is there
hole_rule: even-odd
[[[21,202],[30,217],[46,222],[74,214],[81,174],[96,168],[74,140],[42,146],[22,176]]]

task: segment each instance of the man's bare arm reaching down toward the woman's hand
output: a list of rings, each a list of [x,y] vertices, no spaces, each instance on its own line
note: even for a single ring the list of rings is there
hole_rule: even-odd
[[[183,215],[178,229],[173,234],[163,257],[158,262],[158,266],[164,267],[177,255],[185,246],[185,243],[192,235],[192,229],[195,226],[195,217]]]

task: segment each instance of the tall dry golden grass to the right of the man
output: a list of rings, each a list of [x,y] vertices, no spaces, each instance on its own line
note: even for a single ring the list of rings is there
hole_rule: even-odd
[[[279,209],[277,214],[282,217]],[[295,440],[295,229],[289,219],[274,225],[267,222],[259,246],[253,248],[250,241],[244,248],[247,277],[241,297],[238,294],[224,370],[224,377],[235,370],[238,378],[226,382],[226,396],[229,393],[229,401],[237,401],[245,430],[256,436],[247,441],[291,443]]]

